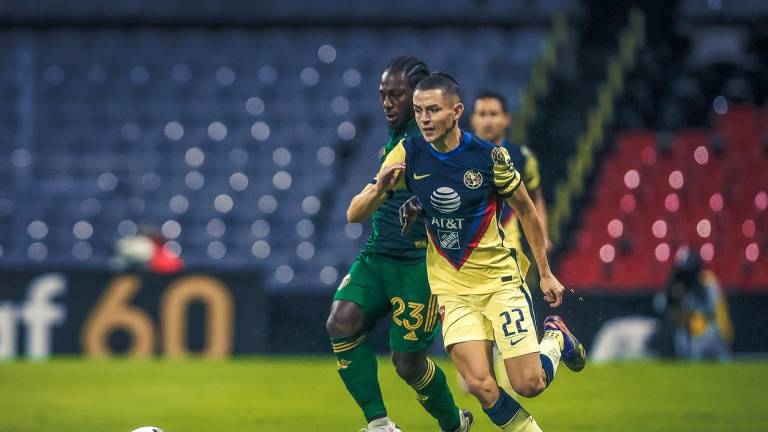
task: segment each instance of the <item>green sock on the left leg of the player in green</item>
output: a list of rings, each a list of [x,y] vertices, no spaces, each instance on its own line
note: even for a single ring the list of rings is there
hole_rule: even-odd
[[[379,387],[379,366],[365,335],[331,338],[339,375],[368,422],[387,416]]]

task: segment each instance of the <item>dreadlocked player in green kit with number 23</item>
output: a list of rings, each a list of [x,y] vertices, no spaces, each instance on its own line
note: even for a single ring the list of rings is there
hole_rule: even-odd
[[[421,135],[413,113],[413,90],[429,70],[414,57],[398,57],[384,70],[379,96],[389,124],[381,161],[402,140]],[[366,333],[392,311],[390,348],[397,374],[442,431],[468,431],[469,411],[456,406],[443,371],[427,357],[437,331],[437,299],[427,282],[424,227],[401,234],[399,208],[412,194],[377,195],[375,180],[352,199],[350,222],[371,219],[371,236],[334,295],[327,330],[339,375],[368,421],[363,431],[397,432],[387,416],[378,366]]]

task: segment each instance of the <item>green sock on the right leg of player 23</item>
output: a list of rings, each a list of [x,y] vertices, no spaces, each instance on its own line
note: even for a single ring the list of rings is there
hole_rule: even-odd
[[[416,390],[417,398],[424,409],[437,420],[440,429],[453,432],[461,426],[459,408],[453,401],[448,380],[432,359],[427,359],[424,375],[409,384]]]

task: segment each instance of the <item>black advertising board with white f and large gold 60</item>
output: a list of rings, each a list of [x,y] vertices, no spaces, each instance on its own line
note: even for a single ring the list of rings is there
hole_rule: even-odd
[[[258,274],[3,272],[0,359],[52,354],[227,357],[264,352]]]

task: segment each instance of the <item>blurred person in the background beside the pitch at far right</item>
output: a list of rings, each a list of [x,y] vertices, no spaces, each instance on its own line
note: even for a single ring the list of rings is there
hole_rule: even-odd
[[[663,310],[659,351],[679,359],[727,360],[733,324],[728,301],[711,270],[702,268],[699,254],[682,247],[667,287],[657,300]]]

